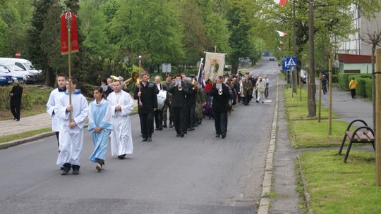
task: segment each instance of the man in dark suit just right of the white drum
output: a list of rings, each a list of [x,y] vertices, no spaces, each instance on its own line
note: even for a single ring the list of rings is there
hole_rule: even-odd
[[[176,75],[175,82],[169,85],[168,92],[172,94],[172,113],[176,137],[184,137],[186,132],[186,95],[190,94],[185,82],[182,82],[181,75]]]

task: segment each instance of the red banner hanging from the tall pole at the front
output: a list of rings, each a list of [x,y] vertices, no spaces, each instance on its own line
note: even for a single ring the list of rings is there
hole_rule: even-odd
[[[68,54],[68,27],[66,25],[67,15],[71,15],[71,53],[78,52],[78,31],[77,20],[75,15],[71,12],[63,13],[61,15],[61,54]]]

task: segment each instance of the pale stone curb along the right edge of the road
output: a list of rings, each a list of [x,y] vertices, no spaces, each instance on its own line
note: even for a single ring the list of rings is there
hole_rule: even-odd
[[[279,99],[278,82],[279,82],[279,76],[277,77],[277,96],[275,99],[274,118],[272,120],[270,146],[266,156],[265,177],[263,177],[263,182],[262,182],[262,194],[260,196],[260,205],[258,208],[258,214],[269,213],[270,199],[268,198],[268,194],[270,194],[271,187],[272,187],[272,170],[273,170],[272,163],[274,160],[274,150],[275,150],[275,143],[277,139],[278,99]]]

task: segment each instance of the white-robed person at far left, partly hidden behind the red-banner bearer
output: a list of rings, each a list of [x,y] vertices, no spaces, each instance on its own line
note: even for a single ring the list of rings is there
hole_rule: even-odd
[[[56,99],[59,98],[62,94],[66,92],[66,80],[67,77],[65,74],[60,73],[57,75],[57,85],[58,87],[50,92],[49,100],[47,101],[47,113],[52,117],[52,131],[56,132],[57,144],[59,146],[59,118],[54,112],[54,108],[56,108]]]

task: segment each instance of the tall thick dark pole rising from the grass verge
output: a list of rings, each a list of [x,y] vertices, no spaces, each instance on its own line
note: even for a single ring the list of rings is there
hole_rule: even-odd
[[[314,56],[314,26],[313,26],[313,0],[310,0],[310,14],[308,17],[308,40],[310,43],[309,50],[309,73],[310,73],[310,85],[308,89],[308,117],[316,117],[316,103],[315,103],[315,56]]]

